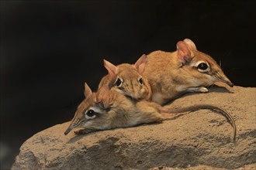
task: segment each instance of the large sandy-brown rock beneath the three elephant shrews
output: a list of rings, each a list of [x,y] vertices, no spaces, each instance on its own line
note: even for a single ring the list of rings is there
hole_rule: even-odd
[[[65,136],[67,122],[25,141],[12,169],[255,168],[256,88],[211,87],[209,91],[187,94],[171,105],[223,107],[237,124],[236,143],[227,119],[213,110],[194,111],[161,124],[85,135]]]

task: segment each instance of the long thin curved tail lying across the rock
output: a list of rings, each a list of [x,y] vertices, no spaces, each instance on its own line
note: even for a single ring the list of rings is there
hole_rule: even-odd
[[[234,131],[233,140],[234,140],[234,142],[236,141],[237,126],[235,124],[234,118],[231,116],[230,113],[228,113],[226,110],[223,110],[220,107],[216,107],[216,106],[213,106],[213,105],[210,105],[210,104],[197,104],[197,105],[194,105],[194,106],[183,107],[183,108],[178,108],[178,109],[164,107],[163,112],[178,114],[178,113],[184,113],[184,112],[187,112],[187,111],[195,111],[195,110],[200,110],[200,109],[216,110],[220,114],[223,114],[223,116],[227,117],[227,120],[230,122],[231,126],[233,127],[233,131]]]

